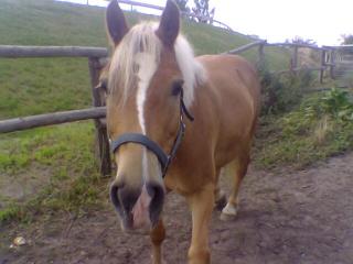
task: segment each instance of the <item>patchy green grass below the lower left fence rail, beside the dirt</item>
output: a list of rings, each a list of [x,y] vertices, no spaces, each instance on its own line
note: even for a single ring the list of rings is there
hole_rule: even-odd
[[[0,223],[13,219],[28,222],[38,213],[81,211],[97,205],[106,179],[95,164],[93,139],[90,122],[1,136],[0,189],[7,187],[9,178],[45,183],[24,201],[1,195]]]

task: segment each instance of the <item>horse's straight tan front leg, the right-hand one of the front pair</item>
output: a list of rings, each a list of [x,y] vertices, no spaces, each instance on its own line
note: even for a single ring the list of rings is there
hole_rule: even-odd
[[[208,226],[214,207],[214,185],[210,184],[200,191],[188,196],[192,212],[192,239],[189,249],[189,264],[208,264]]]

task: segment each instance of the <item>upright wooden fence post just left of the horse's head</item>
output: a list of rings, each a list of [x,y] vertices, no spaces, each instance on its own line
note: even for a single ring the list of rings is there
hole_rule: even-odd
[[[99,70],[100,64],[98,57],[88,58],[90,84],[92,84],[92,96],[94,107],[101,107],[101,98],[99,96],[99,90],[96,86],[99,81]],[[96,156],[99,161],[99,170],[103,176],[109,176],[111,174],[110,164],[110,147],[107,134],[107,128],[104,125],[99,119],[95,119],[96,127]]]

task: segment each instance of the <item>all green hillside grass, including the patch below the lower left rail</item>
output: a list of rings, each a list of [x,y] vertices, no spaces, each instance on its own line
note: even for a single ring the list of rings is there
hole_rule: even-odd
[[[108,46],[104,15],[101,8],[51,0],[2,0],[0,45]],[[127,18],[130,24],[154,19],[138,13]],[[183,22],[182,30],[196,54],[221,53],[250,42],[192,22]],[[272,67],[287,65],[285,52],[268,50],[267,55]],[[256,58],[255,52],[246,56]],[[0,59],[0,119],[90,105],[87,59]],[[94,204],[100,193],[93,187],[98,180],[94,161],[90,121],[1,134],[0,222],[23,213],[12,198],[41,210]],[[35,197],[28,200],[32,194]]]

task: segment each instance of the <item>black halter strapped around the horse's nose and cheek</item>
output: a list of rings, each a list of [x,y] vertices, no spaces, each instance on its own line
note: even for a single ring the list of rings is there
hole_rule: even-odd
[[[169,152],[169,154],[165,154],[162,147],[159,146],[158,143],[154,141],[150,140],[148,136],[140,134],[140,133],[125,133],[120,135],[117,140],[111,141],[111,151],[116,152],[119,146],[126,144],[126,143],[137,143],[146,146],[149,151],[153,152],[154,155],[157,156],[159,163],[161,164],[162,167],[162,177],[165,176],[168,167],[172,160],[176,155],[176,151],[184,138],[185,134],[185,123],[183,120],[184,114],[189,118],[190,121],[194,121],[194,118],[190,114],[188,111],[185,103],[184,103],[184,98],[183,98],[183,89],[180,91],[180,121],[179,121],[179,130],[176,138],[174,140],[174,144]]]

